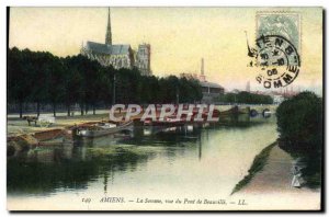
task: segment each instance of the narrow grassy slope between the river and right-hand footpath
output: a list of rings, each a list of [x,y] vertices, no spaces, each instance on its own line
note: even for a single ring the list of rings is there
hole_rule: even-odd
[[[263,167],[265,165],[265,163],[268,161],[268,158],[270,156],[272,148],[276,145],[277,145],[277,142],[274,141],[273,144],[269,145],[259,155],[257,155],[254,157],[253,162],[252,162],[250,169],[248,170],[248,174],[238,184],[236,184],[236,186],[232,190],[230,195],[232,195],[234,193],[236,193],[236,192],[240,191],[242,187],[245,187],[252,180],[252,178],[256,175],[256,173],[258,173],[259,171],[261,171],[263,169]]]

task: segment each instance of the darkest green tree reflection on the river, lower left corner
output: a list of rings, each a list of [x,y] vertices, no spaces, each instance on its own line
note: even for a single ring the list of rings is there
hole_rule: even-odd
[[[134,170],[148,157],[124,147],[34,148],[20,158],[8,159],[8,192],[48,194],[58,189],[86,189],[97,178]]]

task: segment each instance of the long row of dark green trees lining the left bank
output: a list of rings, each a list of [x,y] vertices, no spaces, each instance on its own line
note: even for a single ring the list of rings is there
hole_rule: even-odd
[[[115,81],[114,81],[115,78]],[[103,67],[84,56],[59,58],[50,53],[19,50],[8,53],[8,102],[50,103],[56,105],[78,103],[83,112],[99,104],[115,103],[194,103],[202,99],[198,81],[169,76],[157,78],[141,76],[138,69]]]

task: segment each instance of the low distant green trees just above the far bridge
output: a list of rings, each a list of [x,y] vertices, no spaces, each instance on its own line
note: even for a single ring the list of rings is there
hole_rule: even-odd
[[[243,104],[272,104],[273,99],[270,95],[254,94],[247,91],[239,93],[226,93],[217,99],[223,103],[243,103]]]

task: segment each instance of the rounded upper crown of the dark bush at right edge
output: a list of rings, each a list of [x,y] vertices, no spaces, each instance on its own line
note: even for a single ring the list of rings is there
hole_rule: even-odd
[[[284,101],[276,110],[277,130],[286,148],[319,151],[322,145],[322,100],[302,92]]]

